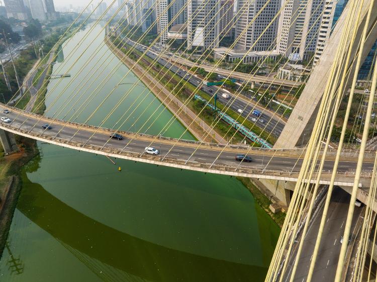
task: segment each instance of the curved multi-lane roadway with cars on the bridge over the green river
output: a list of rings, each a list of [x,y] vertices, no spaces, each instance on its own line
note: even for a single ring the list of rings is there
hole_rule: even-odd
[[[0,111],[3,112],[4,105],[0,104]],[[247,148],[235,149],[235,148],[226,148],[224,152],[221,153],[221,146],[201,146],[200,149],[195,151],[197,144],[195,142],[189,143],[186,141],[178,141],[176,146],[172,144],[175,143],[175,140],[164,140],[156,139],[154,137],[148,136],[138,136],[131,140],[131,136],[134,136],[132,133],[120,132],[125,136],[123,140],[110,140],[109,141],[109,132],[105,129],[93,129],[89,127],[81,127],[80,124],[75,123],[65,123],[64,121],[52,121],[47,117],[31,115],[29,118],[29,113],[23,112],[17,109],[11,109],[11,113],[2,114],[4,117],[9,117],[13,130],[19,132],[19,128],[27,131],[32,131],[34,134],[43,134],[46,137],[57,137],[64,140],[72,140],[77,143],[85,143],[87,145],[93,146],[105,146],[106,149],[123,149],[124,152],[137,153],[139,155],[144,153],[145,147],[154,147],[160,151],[160,157],[168,157],[170,159],[176,160],[188,160],[195,161],[197,163],[208,164],[212,163],[216,157],[216,164],[228,165],[232,167],[237,167],[241,164],[241,168],[253,168],[253,169],[268,169],[274,171],[299,171],[302,165],[302,159],[298,159],[297,156],[271,156],[262,151],[253,151],[249,156],[252,158],[252,162],[238,162],[235,160],[235,156],[238,153],[247,152]],[[51,130],[42,129],[42,125],[50,123],[52,126]],[[4,123],[3,123],[4,124]],[[1,126],[2,124],[0,124]],[[65,126],[64,126],[65,125]],[[14,128],[16,127],[16,128]],[[5,128],[7,129],[7,128]],[[95,133],[95,131],[98,131]],[[31,136],[32,138],[32,136]],[[153,141],[153,142],[152,142]],[[48,140],[46,140],[48,142]],[[61,141],[60,141],[61,142]],[[152,144],[151,144],[152,143]],[[171,149],[172,148],[172,149]],[[78,148],[79,149],[79,148]],[[195,151],[193,156],[192,153]],[[169,153],[168,153],[169,152]],[[268,163],[268,165],[267,165]],[[372,169],[372,162],[364,162],[363,169],[370,170]],[[349,169],[354,169],[356,167],[355,160],[342,160],[339,163],[339,172],[349,171]],[[328,160],[325,162],[324,170],[332,170],[333,161]],[[231,168],[232,169],[232,168]]]

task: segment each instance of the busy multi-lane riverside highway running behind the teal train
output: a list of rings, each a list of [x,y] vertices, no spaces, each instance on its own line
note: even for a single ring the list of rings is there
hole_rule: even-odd
[[[126,42],[126,41],[127,41],[127,39],[123,38],[123,42]],[[128,40],[126,43],[128,43],[131,46],[134,46],[134,44],[136,44],[135,42],[133,42],[131,40]],[[140,44],[138,44],[138,46],[136,47],[136,49],[140,52],[145,51],[143,48],[145,48],[145,47],[143,47]],[[152,48],[155,48],[155,47],[152,47]],[[155,50],[155,49],[154,49],[154,51],[157,52],[157,50]],[[154,53],[154,52],[148,51],[146,54],[151,59],[157,58],[157,54]],[[231,105],[230,109],[232,109],[236,113],[238,113],[239,109],[242,110],[243,112],[242,112],[241,115],[244,118],[247,118],[252,123],[255,123],[255,121],[253,121],[253,119],[256,119],[257,126],[259,128],[265,129],[265,131],[267,131],[267,132],[271,132],[272,136],[277,138],[280,135],[281,131],[283,130],[283,128],[285,126],[285,122],[282,121],[277,115],[272,116],[271,113],[263,110],[262,107],[258,107],[253,103],[248,103],[245,100],[243,100],[242,98],[236,98],[235,96],[233,96],[231,94],[229,94],[229,96],[230,96],[229,99],[225,99],[224,97],[222,97],[222,94],[227,93],[227,92],[224,91],[223,89],[220,88],[220,90],[219,90],[219,87],[217,87],[217,86],[203,86],[203,80],[201,78],[196,77],[195,75],[192,75],[189,72],[186,72],[184,69],[179,68],[178,66],[176,66],[174,64],[171,64],[170,62],[161,58],[160,56],[158,56],[157,62],[159,64],[165,66],[166,68],[170,69],[176,75],[184,78],[184,80],[190,82],[195,87],[200,86],[201,89],[204,92],[206,92],[209,96],[213,97],[215,95],[215,93],[217,92],[218,102],[220,102],[221,104],[223,104],[225,106]],[[251,98],[251,95],[248,98]],[[260,112],[262,112],[262,114],[259,118],[257,118],[253,114],[251,114],[253,109],[259,110]]]

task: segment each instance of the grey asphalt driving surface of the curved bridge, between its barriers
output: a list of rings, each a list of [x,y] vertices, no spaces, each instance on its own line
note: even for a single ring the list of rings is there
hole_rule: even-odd
[[[0,111],[3,111],[3,108],[0,108]],[[31,116],[28,118],[26,115],[27,113],[18,115],[16,112],[11,112],[9,114],[2,114],[1,116],[10,118],[12,122],[9,124],[12,126],[28,131],[32,130],[37,134],[45,134],[51,137],[58,137],[61,139],[72,140],[89,145],[96,145],[101,147],[106,146],[106,148],[124,148],[124,151],[132,153],[142,154],[145,150],[145,147],[154,147],[155,149],[159,150],[159,155],[162,157],[167,156],[173,159],[191,160],[199,163],[212,163],[217,158],[215,162],[216,164],[231,165],[234,167],[240,164],[241,167],[259,169],[265,168],[267,170],[275,171],[299,171],[302,165],[302,159],[298,159],[297,157],[271,157],[267,155],[261,155],[259,153],[249,154],[249,156],[252,158],[252,162],[239,162],[235,160],[236,154],[234,153],[234,151],[224,150],[224,152],[221,153],[221,149],[216,147],[210,149],[201,148],[194,153],[195,148],[184,146],[183,142],[178,143],[176,146],[172,146],[171,144],[166,144],[162,141],[160,141],[161,143],[157,141],[150,144],[149,141],[140,139],[131,140],[125,138],[123,140],[114,140],[110,139],[110,135],[107,134],[96,133],[93,135],[93,133],[86,128],[77,130],[77,125],[67,124],[65,127],[63,127],[59,124],[54,124],[53,122],[51,122],[52,129],[44,130],[42,129],[42,125],[45,124],[45,122],[40,121],[38,116]],[[48,140],[46,141],[48,142]],[[369,170],[372,169],[372,166],[372,163],[365,162],[363,169]],[[349,171],[349,169],[354,169],[355,167],[355,161],[340,161],[338,171]],[[332,170],[332,168],[333,161],[326,161],[324,170]]]

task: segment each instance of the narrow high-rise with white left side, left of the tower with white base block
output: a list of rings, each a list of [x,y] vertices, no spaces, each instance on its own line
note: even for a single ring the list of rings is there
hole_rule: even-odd
[[[186,6],[186,3],[187,0],[174,0],[173,2],[170,0],[157,0],[157,33],[161,34],[160,43],[162,45],[166,43],[168,29],[171,26],[187,22],[187,9],[183,9],[183,7]]]

